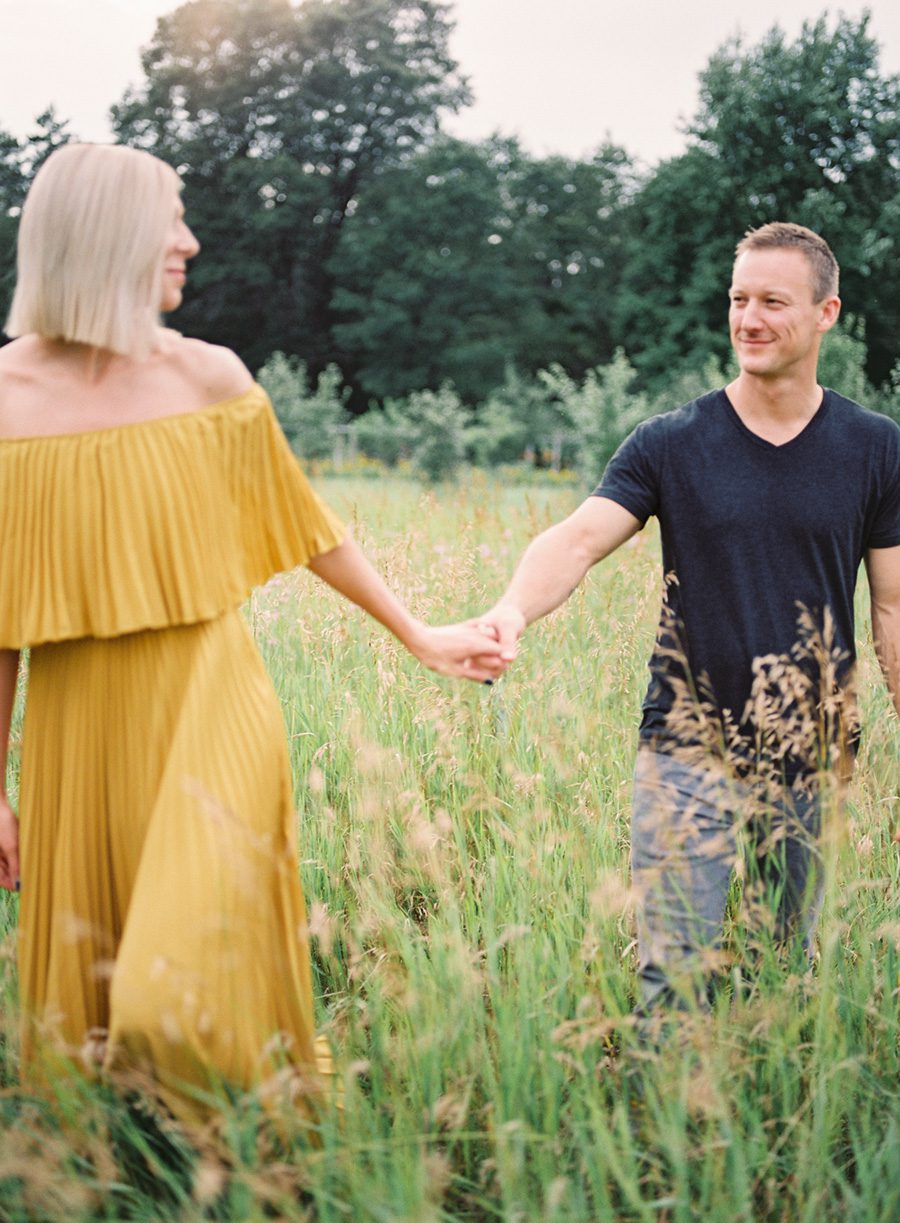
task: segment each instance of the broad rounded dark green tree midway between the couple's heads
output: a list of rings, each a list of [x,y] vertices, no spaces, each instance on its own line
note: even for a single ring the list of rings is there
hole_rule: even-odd
[[[580,374],[611,355],[610,295],[631,170],[443,138],[360,193],[331,269],[335,338],[364,393],[454,383],[468,402],[512,366]]]

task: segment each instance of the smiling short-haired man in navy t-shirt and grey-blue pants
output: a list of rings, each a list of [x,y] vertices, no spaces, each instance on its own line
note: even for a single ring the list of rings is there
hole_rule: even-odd
[[[775,938],[811,947],[822,781],[855,747],[863,558],[900,711],[900,428],[817,383],[836,260],[803,226],[764,225],[737,246],[730,303],[735,380],[638,426],[481,618],[512,659],[531,621],[659,519],[665,593],[632,807],[646,1009],[702,1000],[741,838]]]

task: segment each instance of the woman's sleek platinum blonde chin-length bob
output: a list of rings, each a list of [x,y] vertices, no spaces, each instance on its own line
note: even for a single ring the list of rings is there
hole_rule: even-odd
[[[122,144],[66,144],[34,176],[6,334],[143,358],[158,344],[175,170]]]

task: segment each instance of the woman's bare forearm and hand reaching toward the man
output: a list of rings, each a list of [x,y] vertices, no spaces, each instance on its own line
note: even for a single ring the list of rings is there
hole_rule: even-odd
[[[345,538],[308,567],[390,630],[421,663],[440,675],[493,680],[504,670],[500,646],[476,621],[433,627],[416,620],[385,586],[362,549]]]

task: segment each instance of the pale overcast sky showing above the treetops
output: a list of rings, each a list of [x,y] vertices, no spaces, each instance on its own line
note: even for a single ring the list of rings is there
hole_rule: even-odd
[[[82,139],[110,138],[108,110],[139,83],[138,50],[177,0],[0,0],[0,128],[24,136],[53,103]],[[532,153],[582,157],[607,136],[646,163],[684,147],[697,73],[721,43],[790,38],[818,0],[455,0],[452,50],[474,105],[448,122],[477,139],[516,135]],[[900,2],[841,0],[872,12],[882,70],[900,71]]]

